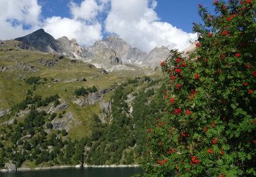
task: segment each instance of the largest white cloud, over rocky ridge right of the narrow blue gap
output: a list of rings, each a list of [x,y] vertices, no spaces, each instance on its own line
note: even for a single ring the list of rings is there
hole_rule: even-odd
[[[157,46],[184,50],[190,45],[190,40],[197,39],[196,34],[186,33],[167,22],[160,22],[154,11],[156,5],[155,0],[111,0],[111,11],[106,18],[105,29],[146,52]]]

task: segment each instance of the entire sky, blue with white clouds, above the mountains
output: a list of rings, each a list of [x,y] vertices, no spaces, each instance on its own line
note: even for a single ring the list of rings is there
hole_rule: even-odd
[[[212,0],[213,1],[213,0]],[[197,39],[198,4],[206,0],[0,0],[0,39],[43,28],[55,39],[76,38],[81,46],[115,34],[149,52],[158,46],[184,48]]]

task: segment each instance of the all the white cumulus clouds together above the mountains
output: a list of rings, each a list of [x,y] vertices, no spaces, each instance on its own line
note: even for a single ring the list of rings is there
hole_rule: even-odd
[[[156,6],[156,0],[83,0],[81,3],[70,0],[70,18],[44,19],[38,0],[0,0],[0,39],[13,39],[44,28],[56,39],[65,35],[87,46],[102,39],[104,29],[149,52],[157,46],[182,50],[197,38],[193,33],[161,22],[154,10]],[[106,19],[102,19],[102,14]]]

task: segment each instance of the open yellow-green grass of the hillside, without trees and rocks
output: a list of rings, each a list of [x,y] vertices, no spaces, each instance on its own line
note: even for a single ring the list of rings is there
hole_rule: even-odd
[[[81,139],[85,135],[91,133],[91,117],[100,112],[99,106],[96,103],[94,106],[80,106],[72,103],[74,90],[81,86],[91,87],[95,85],[98,90],[114,86],[119,82],[125,82],[128,78],[143,76],[143,71],[136,67],[133,71],[113,71],[109,74],[101,74],[100,69],[90,68],[87,63],[77,61],[70,63],[70,59],[62,59],[56,62],[54,67],[45,67],[38,63],[39,59],[55,59],[53,54],[42,52],[31,52],[29,50],[21,50],[15,48],[16,42],[8,42],[8,44],[0,46],[0,66],[7,66],[7,71],[0,71],[0,108],[11,108],[16,103],[25,98],[26,91],[32,90],[32,86],[26,84],[24,79],[31,76],[40,76],[48,78],[44,84],[37,86],[33,95],[42,95],[47,97],[50,95],[59,94],[69,103],[69,108],[66,110],[74,114],[81,121],[81,125],[70,130],[69,137]],[[12,50],[9,50],[12,48]],[[17,65],[27,63],[33,65],[38,71],[23,71]],[[158,75],[160,72],[156,72]],[[66,82],[71,79],[86,78],[87,82]],[[58,79],[60,82],[53,83],[51,78]],[[105,95],[104,100],[110,101],[113,92]],[[1,123],[0,119],[0,123]]]

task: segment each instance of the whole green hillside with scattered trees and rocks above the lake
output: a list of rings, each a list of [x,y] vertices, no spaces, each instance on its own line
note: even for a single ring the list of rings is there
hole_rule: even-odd
[[[1,44],[0,166],[140,163],[163,88],[160,71],[149,77],[150,69],[130,68],[106,73],[15,41]]]

